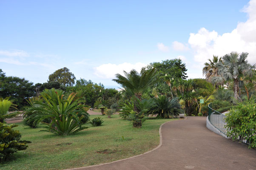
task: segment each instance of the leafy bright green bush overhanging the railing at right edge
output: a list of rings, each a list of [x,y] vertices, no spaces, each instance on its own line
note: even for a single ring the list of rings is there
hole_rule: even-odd
[[[233,140],[247,140],[249,148],[256,148],[256,104],[248,102],[230,109],[226,114],[225,122],[228,128],[228,137]]]

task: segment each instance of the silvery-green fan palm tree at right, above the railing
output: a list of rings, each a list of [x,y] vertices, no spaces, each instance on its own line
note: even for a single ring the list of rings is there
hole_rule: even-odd
[[[253,77],[253,72],[255,71],[255,66],[250,65],[246,60],[248,53],[242,52],[241,54],[237,52],[231,52],[222,57],[223,63],[218,62],[216,64],[218,68],[218,74],[220,77],[212,77],[211,82],[224,83],[226,80],[233,80],[233,91],[234,98],[236,100],[241,100],[238,91],[239,91],[239,78],[240,77]]]

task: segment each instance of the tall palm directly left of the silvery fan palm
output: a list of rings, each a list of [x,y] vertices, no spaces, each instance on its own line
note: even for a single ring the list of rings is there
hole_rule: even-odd
[[[209,62],[205,62],[205,67],[203,68],[203,76],[205,76],[208,82],[211,81],[212,77],[219,76],[217,63],[222,62],[222,57],[213,55],[213,60],[208,59]],[[217,85],[215,85],[217,86]]]

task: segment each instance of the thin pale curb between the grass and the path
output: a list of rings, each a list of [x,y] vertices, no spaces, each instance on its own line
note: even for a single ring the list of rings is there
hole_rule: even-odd
[[[177,120],[182,120],[182,119],[177,119]],[[184,119],[183,119],[184,120]],[[171,120],[171,121],[168,121],[168,122],[173,122],[173,121],[176,121],[176,120]],[[165,122],[165,123],[168,123],[168,122]],[[147,153],[151,153],[153,152],[154,150],[157,150],[159,147],[162,146],[162,126],[165,125],[165,123],[163,123],[160,127],[159,127],[159,145],[157,147],[155,147],[154,149],[152,150],[149,150],[148,152],[145,152],[145,153],[142,153],[140,155],[135,155],[135,156],[132,156],[132,157],[129,157],[129,158],[125,158],[125,159],[119,159],[117,161],[112,161],[112,162],[107,162],[107,163],[103,163],[103,164],[97,164],[97,165],[91,165],[91,166],[87,166],[87,167],[75,167],[75,168],[71,168],[71,169],[63,169],[63,170],[81,170],[81,169],[85,169],[85,168],[89,168],[89,167],[98,167],[98,166],[102,166],[102,165],[105,165],[105,164],[112,164],[112,163],[116,163],[116,162],[119,162],[119,161],[125,161],[127,159],[132,159],[132,158],[135,158],[137,156],[142,156],[142,155],[145,155]]]

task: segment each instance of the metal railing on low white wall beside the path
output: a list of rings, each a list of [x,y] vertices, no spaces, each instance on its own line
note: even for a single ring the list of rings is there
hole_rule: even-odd
[[[211,108],[211,103],[208,105],[208,117],[210,123],[216,127],[221,133],[225,134],[227,136],[227,128],[225,125],[227,123],[225,122],[225,114],[219,113]]]

